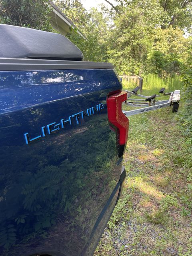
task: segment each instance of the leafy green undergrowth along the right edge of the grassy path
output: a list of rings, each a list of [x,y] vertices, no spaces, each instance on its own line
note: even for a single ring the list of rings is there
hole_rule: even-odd
[[[182,70],[183,80],[183,98],[185,106],[179,115],[180,130],[184,136],[182,146],[183,164],[186,166],[186,172],[182,173],[186,176],[188,184],[186,190],[179,194],[179,197],[184,204],[182,207],[182,215],[190,216],[192,212],[192,38],[187,51],[187,58]]]

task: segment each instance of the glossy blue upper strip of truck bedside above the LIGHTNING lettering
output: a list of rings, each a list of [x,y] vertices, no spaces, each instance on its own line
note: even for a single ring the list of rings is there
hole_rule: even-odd
[[[0,72],[0,114],[111,87],[120,87],[112,69]]]

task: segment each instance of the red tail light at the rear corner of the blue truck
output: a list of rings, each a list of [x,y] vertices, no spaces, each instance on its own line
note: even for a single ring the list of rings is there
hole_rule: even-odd
[[[129,120],[122,112],[122,102],[127,100],[127,92],[117,92],[108,96],[107,111],[108,120],[112,128],[116,128],[118,140],[118,156],[124,154],[127,144]]]

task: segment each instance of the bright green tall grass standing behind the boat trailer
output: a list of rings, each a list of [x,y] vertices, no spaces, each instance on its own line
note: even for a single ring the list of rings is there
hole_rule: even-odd
[[[126,83],[122,81],[124,90],[130,90],[136,87],[137,85],[133,83]],[[181,88],[180,77],[175,75],[170,78],[160,78],[157,74],[148,74],[143,80],[143,94],[150,92],[158,94],[159,90],[165,87],[166,92],[171,92]]]

